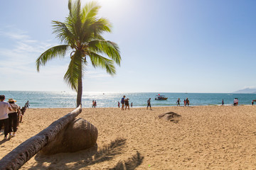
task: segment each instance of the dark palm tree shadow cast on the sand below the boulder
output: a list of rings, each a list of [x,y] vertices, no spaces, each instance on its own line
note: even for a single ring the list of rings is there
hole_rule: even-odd
[[[115,156],[122,154],[125,143],[125,139],[117,139],[110,142],[109,145],[102,147],[102,149],[100,149],[99,151],[97,151],[97,145],[95,145],[95,147],[91,147],[90,149],[85,149],[80,152],[74,153],[61,153],[50,156],[38,153],[35,157],[37,162],[30,169],[86,168],[87,166],[91,166],[93,164],[110,161],[114,159]],[[120,169],[122,169],[122,163],[124,167],[131,167],[130,169],[134,169],[142,163],[142,159],[143,157],[141,157],[139,152],[137,152],[136,155],[125,161],[124,164],[122,162],[119,162],[115,167],[117,167],[117,169],[119,169],[119,167]]]

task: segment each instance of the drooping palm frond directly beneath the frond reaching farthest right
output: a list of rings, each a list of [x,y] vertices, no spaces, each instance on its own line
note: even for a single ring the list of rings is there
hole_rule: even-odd
[[[90,52],[89,56],[93,67],[101,67],[102,69],[106,69],[107,73],[110,75],[116,74],[114,62],[112,60],[102,57],[95,52]]]

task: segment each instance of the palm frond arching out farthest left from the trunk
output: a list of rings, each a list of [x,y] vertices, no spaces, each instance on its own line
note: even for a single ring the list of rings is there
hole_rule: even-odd
[[[40,57],[38,57],[38,59],[36,60],[37,71],[39,72],[41,65],[46,65],[46,62],[48,62],[49,60],[52,60],[56,57],[65,57],[65,53],[67,52],[68,48],[69,45],[57,45],[43,52],[43,54],[40,55]]]

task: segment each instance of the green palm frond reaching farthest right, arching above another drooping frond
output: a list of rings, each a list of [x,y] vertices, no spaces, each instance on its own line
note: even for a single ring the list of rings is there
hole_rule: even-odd
[[[119,47],[116,43],[109,40],[92,40],[89,42],[88,46],[91,51],[105,54],[120,65],[122,59],[119,54]]]

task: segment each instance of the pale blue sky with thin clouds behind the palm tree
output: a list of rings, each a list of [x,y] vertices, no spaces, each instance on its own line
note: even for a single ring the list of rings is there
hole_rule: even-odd
[[[85,4],[87,1],[82,1]],[[110,77],[88,65],[83,91],[230,93],[255,88],[256,1],[99,0],[112,23],[121,67]],[[13,0],[0,6],[0,90],[71,91],[64,60],[36,72],[36,58],[59,41],[68,0]]]

